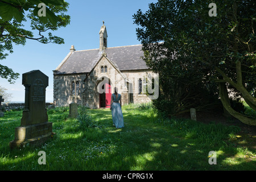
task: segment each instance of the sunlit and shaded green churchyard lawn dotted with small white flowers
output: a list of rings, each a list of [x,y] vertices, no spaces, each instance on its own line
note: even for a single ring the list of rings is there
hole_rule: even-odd
[[[125,127],[115,129],[109,109],[68,118],[68,108],[48,111],[52,140],[10,150],[22,111],[0,118],[0,170],[255,170],[256,152],[237,126],[166,119],[150,105],[123,106]],[[38,164],[39,151],[46,165]],[[210,165],[209,152],[217,164]]]

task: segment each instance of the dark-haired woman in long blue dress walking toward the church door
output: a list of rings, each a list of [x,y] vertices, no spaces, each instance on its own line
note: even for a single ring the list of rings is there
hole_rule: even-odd
[[[115,87],[115,93],[111,95],[110,110],[112,110],[113,124],[119,129],[125,127],[125,125],[123,124],[122,96],[117,92],[118,90]]]

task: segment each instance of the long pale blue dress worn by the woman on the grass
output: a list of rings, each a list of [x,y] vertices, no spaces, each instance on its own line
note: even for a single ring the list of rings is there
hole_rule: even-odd
[[[112,94],[113,97],[113,103],[112,103],[112,118],[113,118],[113,124],[117,129],[120,127],[125,127],[123,124],[123,113],[121,105],[119,104],[119,100],[121,98],[121,94],[118,94],[118,97],[115,96],[115,94]]]

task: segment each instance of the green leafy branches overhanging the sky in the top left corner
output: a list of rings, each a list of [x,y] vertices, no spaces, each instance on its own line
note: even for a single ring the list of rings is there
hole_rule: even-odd
[[[63,44],[64,39],[52,35],[51,31],[69,24],[70,16],[64,14],[68,5],[63,0],[0,0],[0,60],[6,59],[6,52],[13,53],[13,44],[24,46],[27,39]],[[42,15],[44,10],[46,16]],[[31,22],[31,30],[23,28],[22,22],[27,20]],[[38,31],[38,37],[32,31]],[[0,77],[13,83],[19,73],[0,64]]]

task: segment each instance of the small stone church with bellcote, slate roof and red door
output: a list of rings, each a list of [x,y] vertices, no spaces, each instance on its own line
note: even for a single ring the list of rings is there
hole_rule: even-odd
[[[142,45],[108,47],[104,23],[99,34],[99,48],[76,51],[71,46],[53,71],[54,104],[68,106],[76,102],[91,109],[109,108],[115,87],[122,95],[122,105],[150,102],[146,85],[156,74],[141,58]]]

